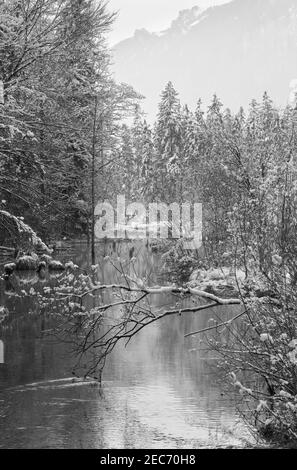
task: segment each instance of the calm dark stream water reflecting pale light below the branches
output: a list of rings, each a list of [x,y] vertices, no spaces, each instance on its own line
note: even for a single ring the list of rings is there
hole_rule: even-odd
[[[140,243],[133,252],[131,247],[98,246],[101,281],[119,280],[103,259],[106,255],[127,260],[134,256],[138,276],[148,283],[160,281],[160,256]],[[87,267],[86,248],[72,248],[67,256]],[[35,287],[37,281],[32,276]],[[18,293],[28,282],[19,280]],[[8,307],[10,321],[0,333],[5,345],[5,364],[0,364],[0,447],[202,448],[252,442],[236,413],[235,397],[223,393],[216,358],[197,338],[184,338],[185,333],[208,326],[211,318],[226,319],[236,310],[222,307],[170,317],[148,327],[127,348],[114,350],[100,388],[73,379],[65,344],[53,344],[41,335],[49,315],[41,316],[30,296],[17,297],[5,288],[2,283],[0,305]],[[175,301],[171,296],[152,299],[155,306]]]

